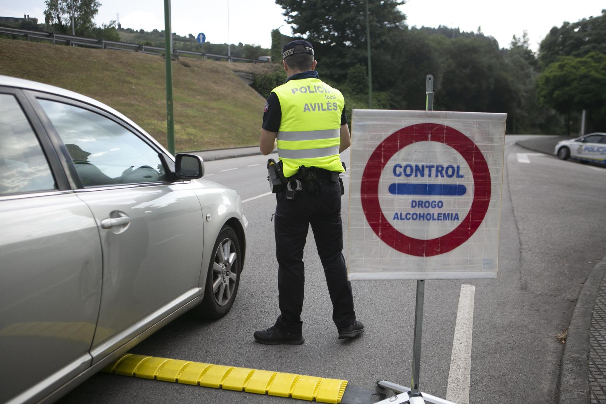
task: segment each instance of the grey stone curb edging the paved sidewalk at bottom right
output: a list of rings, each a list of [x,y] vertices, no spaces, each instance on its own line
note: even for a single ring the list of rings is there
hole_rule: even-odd
[[[590,404],[589,332],[593,306],[605,272],[606,257],[593,267],[576,301],[562,355],[559,404]]]

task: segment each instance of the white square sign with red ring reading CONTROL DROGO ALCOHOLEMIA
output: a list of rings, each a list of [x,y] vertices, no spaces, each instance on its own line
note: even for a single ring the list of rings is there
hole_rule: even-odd
[[[350,280],[496,278],[506,117],[353,110]]]

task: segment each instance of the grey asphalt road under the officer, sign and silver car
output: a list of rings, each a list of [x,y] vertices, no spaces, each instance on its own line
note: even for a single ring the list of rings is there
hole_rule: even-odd
[[[421,390],[445,397],[461,284],[475,286],[470,403],[554,403],[562,344],[574,303],[597,260],[606,255],[606,169],[530,155],[506,136],[498,280],[427,281]],[[265,194],[266,157],[211,161],[207,177],[238,190],[242,200]],[[344,153],[348,162],[348,153]],[[229,170],[237,168],[237,170]],[[345,178],[345,186],[348,186]],[[366,332],[338,340],[313,237],[305,250],[305,343],[266,346],[252,333],[278,315],[277,265],[271,214],[275,197],[244,203],[248,252],[236,303],[216,322],[183,315],[132,352],[173,359],[346,379],[375,388],[376,380],[408,385],[415,281],[356,281],[356,312]],[[347,226],[347,198],[343,200]],[[345,232],[347,237],[347,232]],[[345,245],[347,245],[347,240]],[[464,386],[462,386],[464,388]],[[286,400],[286,401],[285,401]],[[97,374],[61,403],[278,403],[258,396]]]

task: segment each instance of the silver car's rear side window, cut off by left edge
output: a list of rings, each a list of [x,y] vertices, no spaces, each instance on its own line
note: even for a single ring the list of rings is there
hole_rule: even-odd
[[[12,94],[0,94],[0,195],[58,189],[42,146]]]

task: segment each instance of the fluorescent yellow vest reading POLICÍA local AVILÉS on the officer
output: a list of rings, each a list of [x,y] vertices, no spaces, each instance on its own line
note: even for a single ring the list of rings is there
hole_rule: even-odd
[[[278,157],[285,177],[295,175],[300,166],[343,172],[339,145],[345,99],[341,92],[318,78],[289,80],[272,92],[282,110]]]

